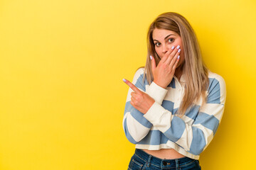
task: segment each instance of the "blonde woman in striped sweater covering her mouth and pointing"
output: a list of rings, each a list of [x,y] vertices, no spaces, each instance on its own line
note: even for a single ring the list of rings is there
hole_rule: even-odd
[[[134,75],[123,128],[136,144],[128,169],[201,169],[225,105],[223,77],[207,69],[196,34],[178,13],[149,26],[146,65]]]

